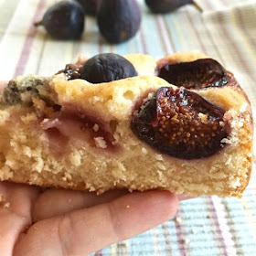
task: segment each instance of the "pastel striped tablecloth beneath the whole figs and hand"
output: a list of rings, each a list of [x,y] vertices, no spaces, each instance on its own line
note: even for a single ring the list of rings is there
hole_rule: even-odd
[[[61,42],[36,30],[53,0],[0,0],[0,79],[37,73],[50,75],[78,53],[146,53],[163,57],[198,49],[236,74],[256,110],[256,1],[197,0],[173,14],[154,16],[139,1],[143,22],[127,43],[112,46],[99,35],[93,18],[86,19],[82,40]],[[198,197],[180,203],[175,219],[144,234],[97,251],[95,255],[256,255],[256,176],[242,199]]]

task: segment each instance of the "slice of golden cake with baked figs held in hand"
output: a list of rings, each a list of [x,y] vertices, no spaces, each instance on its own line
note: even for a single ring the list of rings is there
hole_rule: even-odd
[[[80,58],[0,97],[0,180],[229,197],[250,180],[250,102],[197,52]]]

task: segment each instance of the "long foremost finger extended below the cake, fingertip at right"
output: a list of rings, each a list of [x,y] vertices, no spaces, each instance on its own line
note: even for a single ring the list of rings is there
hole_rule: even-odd
[[[18,241],[14,255],[86,255],[161,224],[176,214],[176,208],[176,196],[169,192],[134,192],[37,222]]]

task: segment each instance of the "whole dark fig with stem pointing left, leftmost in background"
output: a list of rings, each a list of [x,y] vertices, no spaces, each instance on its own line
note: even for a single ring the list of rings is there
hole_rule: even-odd
[[[58,39],[79,39],[84,29],[84,11],[76,1],[61,1],[48,8],[41,22],[48,34]]]

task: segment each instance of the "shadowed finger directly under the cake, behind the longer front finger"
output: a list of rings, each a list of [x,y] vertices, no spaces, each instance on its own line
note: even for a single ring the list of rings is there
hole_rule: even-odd
[[[37,198],[33,209],[33,221],[49,219],[69,211],[89,208],[112,201],[127,194],[126,190],[112,190],[99,196],[92,192],[79,192],[67,189],[48,189]]]

